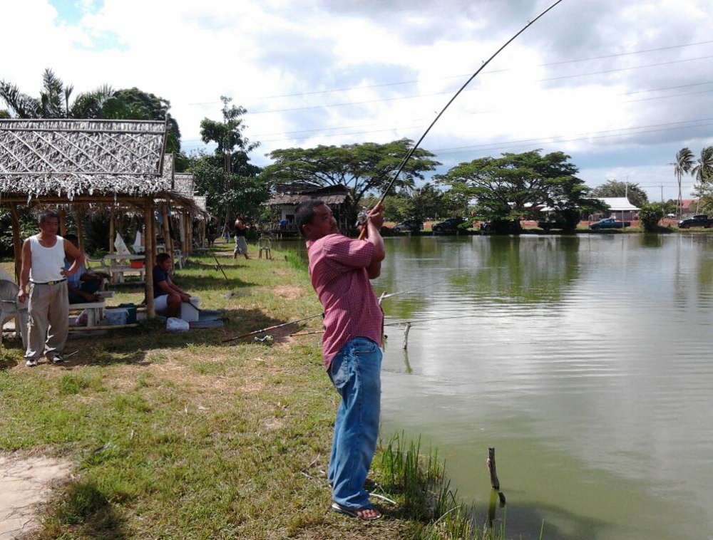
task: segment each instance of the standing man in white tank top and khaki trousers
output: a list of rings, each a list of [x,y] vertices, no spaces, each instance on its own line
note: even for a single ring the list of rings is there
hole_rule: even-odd
[[[62,362],[62,350],[69,331],[68,274],[74,274],[84,262],[84,254],[71,242],[57,235],[59,216],[43,212],[39,217],[39,234],[22,244],[20,291],[17,299],[27,300],[29,323],[25,365],[37,365],[42,355],[53,363]],[[64,269],[64,257],[74,258]],[[27,285],[30,286],[29,294]]]

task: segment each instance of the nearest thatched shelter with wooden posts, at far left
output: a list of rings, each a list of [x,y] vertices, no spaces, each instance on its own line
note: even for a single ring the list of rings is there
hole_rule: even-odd
[[[80,211],[141,212],[153,266],[155,202],[195,207],[173,192],[173,160],[164,167],[166,124],[143,120],[0,120],[0,207],[13,215],[16,274],[21,240],[17,208],[69,205]],[[79,222],[79,220],[78,220]],[[146,273],[153,316],[152,276]]]

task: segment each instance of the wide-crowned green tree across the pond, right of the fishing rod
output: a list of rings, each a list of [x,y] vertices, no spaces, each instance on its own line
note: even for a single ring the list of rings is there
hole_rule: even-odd
[[[530,214],[534,207],[550,207],[562,215],[597,207],[589,188],[576,177],[577,167],[563,152],[542,155],[540,150],[463,162],[436,181],[448,186],[452,197],[473,199],[479,217],[496,224]]]

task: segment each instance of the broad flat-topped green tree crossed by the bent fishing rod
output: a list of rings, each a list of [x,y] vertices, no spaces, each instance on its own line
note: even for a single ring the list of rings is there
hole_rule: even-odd
[[[362,142],[274,150],[268,156],[275,163],[265,167],[265,177],[271,182],[306,182],[319,187],[347,186],[351,204],[347,209],[348,219],[354,222],[363,197],[369,193],[381,194],[413,145],[412,140],[401,139],[385,144]],[[441,165],[431,157],[434,157],[431,152],[417,149],[394,182],[394,188],[411,189],[414,180],[423,179],[423,172]]]

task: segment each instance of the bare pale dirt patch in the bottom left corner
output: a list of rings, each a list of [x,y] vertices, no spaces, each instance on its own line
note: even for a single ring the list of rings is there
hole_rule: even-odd
[[[20,538],[36,528],[37,504],[46,500],[52,482],[66,478],[72,464],[49,457],[0,455],[0,540]]]

